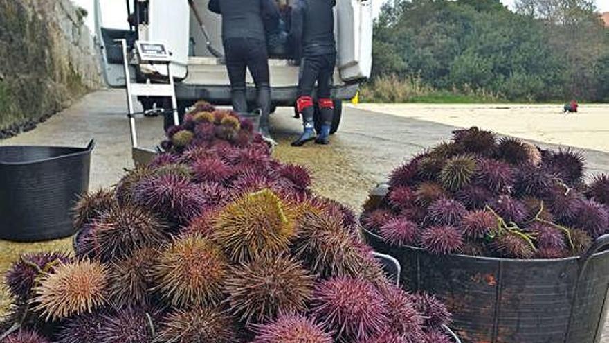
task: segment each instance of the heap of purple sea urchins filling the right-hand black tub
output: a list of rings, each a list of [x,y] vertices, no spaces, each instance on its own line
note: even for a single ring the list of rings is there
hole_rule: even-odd
[[[609,178],[584,158],[472,127],[394,170],[362,222],[390,245],[434,254],[564,258],[609,230]]]

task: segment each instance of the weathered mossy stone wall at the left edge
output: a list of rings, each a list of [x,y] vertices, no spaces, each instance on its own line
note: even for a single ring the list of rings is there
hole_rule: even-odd
[[[70,0],[0,0],[0,138],[100,87],[86,16]]]

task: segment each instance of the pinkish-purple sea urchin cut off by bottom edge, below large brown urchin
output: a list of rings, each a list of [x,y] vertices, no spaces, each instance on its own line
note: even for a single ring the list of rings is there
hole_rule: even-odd
[[[332,343],[331,333],[302,315],[280,315],[278,319],[255,326],[251,343]]]

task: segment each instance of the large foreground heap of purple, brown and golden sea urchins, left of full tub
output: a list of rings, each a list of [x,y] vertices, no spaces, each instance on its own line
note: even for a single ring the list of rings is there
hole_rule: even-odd
[[[167,150],[82,196],[75,254],[21,256],[2,343],[448,343],[446,308],[383,274],[354,213],[252,125],[199,103]]]

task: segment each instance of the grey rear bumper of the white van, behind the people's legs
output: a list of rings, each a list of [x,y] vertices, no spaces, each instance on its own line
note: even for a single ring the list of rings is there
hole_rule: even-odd
[[[332,89],[332,98],[336,100],[351,100],[359,89],[359,83],[337,86]],[[198,100],[206,100],[214,105],[230,105],[230,86],[192,85],[177,83],[176,98],[183,104],[192,104]],[[293,106],[296,104],[298,87],[271,87],[271,100],[275,106]],[[255,87],[247,88],[247,99],[256,101]]]

